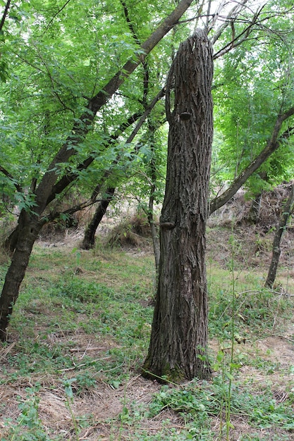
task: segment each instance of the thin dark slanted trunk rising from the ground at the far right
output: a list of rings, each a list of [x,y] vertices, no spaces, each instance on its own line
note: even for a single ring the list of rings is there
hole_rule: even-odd
[[[267,280],[264,286],[271,288],[274,285],[274,280],[276,278],[276,270],[278,268],[278,260],[281,255],[281,238],[283,232],[286,230],[286,225],[288,223],[288,219],[293,212],[294,209],[294,183],[290,190],[290,194],[286,201],[285,206],[283,207],[283,213],[281,214],[280,222],[278,223],[278,228],[276,229],[276,233],[274,235],[273,241],[273,251],[271,257],[271,264],[269,266],[269,273],[267,275]]]

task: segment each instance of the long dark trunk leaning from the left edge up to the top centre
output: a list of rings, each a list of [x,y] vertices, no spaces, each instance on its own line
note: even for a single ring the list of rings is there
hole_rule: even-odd
[[[154,46],[166,35],[174,25],[178,23],[180,17],[187,11],[192,0],[181,0],[178,6],[173,12],[157,27],[157,29],[150,35],[150,37],[142,43],[140,46],[141,52],[137,54],[136,58],[130,59],[121,70],[111,78],[111,80],[104,86],[104,88],[98,92],[92,99],[88,101],[85,108],[85,112],[82,113],[80,118],[75,120],[71,135],[68,136],[66,142],[59,150],[59,152],[52,159],[47,172],[44,173],[42,180],[40,180],[37,186],[35,196],[35,206],[33,216],[24,216],[21,228],[18,231],[18,241],[13,253],[11,267],[6,273],[6,280],[0,297],[0,338],[6,339],[6,328],[9,322],[9,318],[12,313],[13,304],[15,304],[18,298],[20,283],[25,275],[32,246],[37,238],[39,229],[42,228],[42,213],[46,208],[49,198],[54,191],[54,185],[59,180],[59,164],[66,163],[75,155],[75,147],[85,139],[87,133],[92,128],[92,123],[97,112],[111,99],[114,92],[120,87],[125,78],[130,76],[131,73],[142,63],[145,56],[149,54]],[[144,54],[142,54],[142,52]],[[35,234],[36,232],[36,234]]]

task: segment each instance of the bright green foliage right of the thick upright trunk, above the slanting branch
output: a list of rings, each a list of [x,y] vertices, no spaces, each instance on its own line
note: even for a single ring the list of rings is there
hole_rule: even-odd
[[[218,154],[224,180],[233,180],[255,159],[278,115],[293,106],[291,20],[287,13],[267,20],[264,30],[257,28],[254,38],[216,62],[215,125],[223,135]],[[287,124],[283,130],[291,128],[293,120]],[[247,181],[252,194],[292,177],[292,148],[291,139],[282,140],[278,151]]]

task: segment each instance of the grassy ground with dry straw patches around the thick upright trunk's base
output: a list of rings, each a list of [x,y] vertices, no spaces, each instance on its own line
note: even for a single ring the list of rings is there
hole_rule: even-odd
[[[293,300],[263,277],[207,262],[214,377],[162,387],[140,377],[152,254],[36,246],[0,347],[0,440],[225,440],[228,397],[232,439],[293,440]]]

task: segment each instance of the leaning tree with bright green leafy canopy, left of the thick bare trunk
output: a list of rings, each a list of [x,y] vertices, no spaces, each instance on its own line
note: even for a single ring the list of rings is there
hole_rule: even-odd
[[[233,6],[226,17],[221,16],[223,1],[215,13],[210,1],[206,11],[205,6],[198,10],[196,4],[190,8],[191,3],[182,0],[172,11],[172,4],[162,8],[162,0],[141,4],[89,1],[87,5],[35,0],[14,4],[13,14],[6,15],[2,31],[5,37],[7,27],[11,32],[1,42],[6,83],[0,83],[4,104],[0,114],[0,185],[11,206],[20,208],[20,216],[9,240],[13,259],[0,299],[4,320],[0,319],[0,338],[6,337],[6,318],[18,297],[30,250],[42,225],[59,214],[99,201],[101,195],[92,190],[99,187],[103,194],[107,187],[113,188],[103,177],[117,155],[125,163],[129,161],[131,147],[126,147],[124,139],[135,123],[133,116],[140,118],[145,110],[140,102],[146,83],[142,82],[142,71],[144,75],[146,57],[150,51],[154,54],[152,48],[160,46],[154,56],[148,55],[148,66],[157,66],[152,74],[157,90],[149,99],[164,84],[166,60],[173,56],[171,37],[165,37],[164,44],[158,44],[159,40],[176,25],[177,32],[169,34],[172,41],[176,35],[175,44],[184,38],[184,32],[190,34],[193,20],[202,22],[213,34],[217,59],[229,51],[235,53],[246,44],[250,32],[262,35],[266,19],[273,15],[267,11],[259,18],[262,8],[257,13],[246,10],[247,0]],[[180,23],[188,8],[189,16]],[[283,16],[281,6],[278,13]],[[155,29],[151,36],[150,28]],[[284,104],[286,108],[288,101]],[[128,125],[130,120],[133,122]],[[87,189],[85,199],[63,213],[59,203],[75,185]]]

